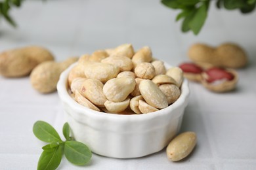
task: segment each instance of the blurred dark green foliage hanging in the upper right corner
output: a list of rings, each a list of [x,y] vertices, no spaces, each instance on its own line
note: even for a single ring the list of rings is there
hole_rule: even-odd
[[[163,5],[178,9],[181,12],[177,15],[176,21],[183,20],[181,31],[193,31],[195,35],[200,33],[200,30],[207,18],[211,0],[161,0]],[[255,9],[256,0],[217,0],[216,7],[226,10],[239,9],[243,14],[252,12]]]

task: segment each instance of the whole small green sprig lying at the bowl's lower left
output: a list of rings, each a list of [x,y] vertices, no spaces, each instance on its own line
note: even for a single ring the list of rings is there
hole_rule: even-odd
[[[70,137],[70,126],[64,124],[62,133],[66,141],[60,139],[57,131],[47,122],[37,121],[33,125],[33,133],[39,140],[49,143],[43,146],[37,169],[51,170],[60,165],[64,154],[68,161],[75,165],[85,165],[91,160],[91,150],[83,143],[74,141]]]

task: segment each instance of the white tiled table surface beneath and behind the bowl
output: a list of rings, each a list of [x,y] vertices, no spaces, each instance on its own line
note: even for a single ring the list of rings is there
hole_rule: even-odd
[[[255,12],[242,16],[212,4],[197,37],[181,33],[180,24],[174,22],[177,11],[152,0],[26,1],[11,14],[18,28],[1,21],[1,51],[38,44],[61,61],[130,42],[136,49],[148,45],[156,58],[178,65],[188,61],[186,51],[194,42],[233,41],[249,56],[248,67],[238,70],[235,92],[212,93],[190,83],[181,131],[195,131],[198,144],[186,160],[173,163],[165,150],[129,160],[93,154],[88,166],[77,167],[64,158],[59,169],[256,169]],[[0,169],[36,169],[44,143],[33,136],[32,126],[44,120],[61,132],[65,120],[58,95],[35,92],[28,77],[1,77],[0,89]]]

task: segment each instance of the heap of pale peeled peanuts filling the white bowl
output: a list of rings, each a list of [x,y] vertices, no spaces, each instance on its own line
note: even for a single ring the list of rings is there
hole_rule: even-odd
[[[168,107],[181,95],[183,72],[165,68],[148,46],[96,50],[79,58],[68,75],[77,103],[106,113],[143,114]]]

